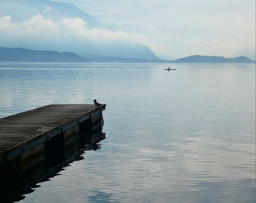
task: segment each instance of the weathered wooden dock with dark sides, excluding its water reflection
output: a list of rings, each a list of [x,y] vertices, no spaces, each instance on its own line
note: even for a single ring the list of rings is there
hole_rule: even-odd
[[[12,162],[18,171],[38,161],[59,162],[75,139],[102,130],[102,111],[94,104],[51,104],[0,119],[0,167]]]

